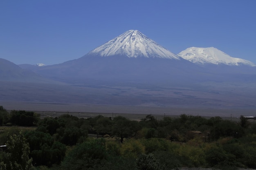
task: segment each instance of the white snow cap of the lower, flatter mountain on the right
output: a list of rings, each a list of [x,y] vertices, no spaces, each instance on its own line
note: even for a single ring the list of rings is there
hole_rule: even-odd
[[[253,62],[241,58],[234,58],[214,48],[190,47],[178,54],[180,57],[196,64],[226,64],[231,66],[256,66]]]

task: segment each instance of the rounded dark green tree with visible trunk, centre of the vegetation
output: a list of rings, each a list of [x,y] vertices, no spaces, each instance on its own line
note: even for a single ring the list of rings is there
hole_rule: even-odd
[[[125,117],[118,116],[114,119],[112,135],[120,137],[120,142],[123,143],[125,137],[135,136],[138,130],[140,130],[140,126],[137,121],[131,121]]]

